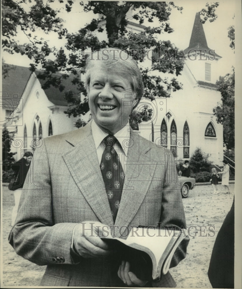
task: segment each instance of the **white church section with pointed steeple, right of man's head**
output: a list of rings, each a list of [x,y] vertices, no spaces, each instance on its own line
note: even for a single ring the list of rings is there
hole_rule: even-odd
[[[170,98],[156,98],[152,103],[144,101],[154,114],[150,121],[139,125],[140,134],[157,146],[174,151],[177,159],[189,159],[199,147],[209,154],[212,162],[221,165],[223,126],[213,114],[213,108],[221,100],[215,85],[221,56],[208,47],[199,13],[189,47],[183,52],[186,60],[182,75],[177,77],[183,89],[171,92]]]

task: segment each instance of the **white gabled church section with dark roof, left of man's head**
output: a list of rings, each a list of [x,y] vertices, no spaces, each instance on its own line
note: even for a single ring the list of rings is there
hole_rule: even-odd
[[[43,89],[42,84],[44,80],[22,66],[10,66],[3,78],[3,114],[8,131],[14,135],[11,151],[16,152],[16,160],[41,145],[42,138],[77,129],[77,118],[64,113],[69,108],[64,92],[76,90],[71,78],[63,81],[62,92],[53,86]]]

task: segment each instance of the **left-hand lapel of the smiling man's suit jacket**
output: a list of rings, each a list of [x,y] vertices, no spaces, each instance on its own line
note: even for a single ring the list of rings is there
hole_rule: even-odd
[[[63,155],[64,161],[100,222],[105,225],[113,225],[107,193],[103,190],[104,182],[90,124],[80,131],[79,142]],[[73,140],[67,141],[73,143]]]

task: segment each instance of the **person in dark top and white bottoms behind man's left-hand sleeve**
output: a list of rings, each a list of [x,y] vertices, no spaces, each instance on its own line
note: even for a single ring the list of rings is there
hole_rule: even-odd
[[[33,153],[25,152],[23,158],[12,164],[11,168],[14,171],[15,180],[10,181],[8,188],[14,191],[14,207],[12,210],[12,222],[11,226],[14,225],[17,212],[18,212],[18,204],[20,201],[21,193],[25,178],[29,171],[29,166],[33,157]]]

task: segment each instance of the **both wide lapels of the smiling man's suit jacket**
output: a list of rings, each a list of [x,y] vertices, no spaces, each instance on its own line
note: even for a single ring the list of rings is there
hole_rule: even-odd
[[[129,147],[125,167],[125,182],[115,225],[128,226],[139,210],[150,186],[155,166],[150,166],[150,147],[139,135],[131,131],[134,145]],[[100,222],[113,225],[110,205],[99,168],[96,148],[88,123],[75,140],[67,140],[75,147],[63,155],[68,169],[81,193],[89,203]],[[132,141],[131,141],[132,143]],[[148,163],[148,164],[147,164]],[[137,224],[143,225],[143,224]]]

